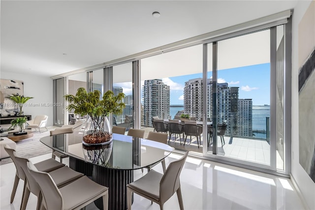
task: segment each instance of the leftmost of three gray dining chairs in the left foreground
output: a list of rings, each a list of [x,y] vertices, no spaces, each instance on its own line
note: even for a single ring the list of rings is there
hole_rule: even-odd
[[[13,189],[12,189],[11,199],[10,199],[10,203],[12,204],[20,179],[25,181],[26,177],[25,177],[25,174],[23,172],[23,169],[20,167],[20,165],[18,165],[16,163],[15,156],[14,156],[15,149],[12,149],[8,144],[4,144],[4,149],[9,154],[9,156],[12,159],[12,161],[15,165],[15,168],[16,168],[16,174],[15,174],[15,178],[14,178],[14,184],[13,184]],[[59,169],[59,168],[65,166],[65,165],[50,158],[50,159],[41,161],[39,163],[36,163],[36,164],[34,164],[34,166],[39,171],[51,172],[51,171],[54,171],[56,169]],[[24,190],[23,190],[22,198],[23,198],[23,196],[24,196]]]

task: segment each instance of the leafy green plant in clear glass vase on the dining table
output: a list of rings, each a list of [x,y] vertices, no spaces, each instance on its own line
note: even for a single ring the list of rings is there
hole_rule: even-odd
[[[73,110],[75,114],[81,116],[89,115],[83,133],[85,145],[106,144],[113,140],[111,126],[106,116],[123,113],[124,97],[124,93],[115,96],[113,91],[107,91],[101,97],[99,90],[88,93],[83,87],[77,90],[75,96],[64,96],[70,103],[66,107],[67,110]]]

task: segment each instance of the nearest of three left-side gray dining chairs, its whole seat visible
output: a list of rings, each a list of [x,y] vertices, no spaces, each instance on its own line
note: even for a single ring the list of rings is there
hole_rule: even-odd
[[[31,162],[27,166],[40,187],[42,206],[46,210],[79,210],[100,197],[103,199],[103,210],[108,209],[108,187],[84,175],[58,189],[51,175],[38,171]]]

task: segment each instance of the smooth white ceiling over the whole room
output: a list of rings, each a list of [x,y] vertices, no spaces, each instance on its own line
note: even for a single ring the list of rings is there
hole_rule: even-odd
[[[0,68],[53,76],[291,9],[296,3],[1,0]],[[154,11],[161,16],[154,18]]]

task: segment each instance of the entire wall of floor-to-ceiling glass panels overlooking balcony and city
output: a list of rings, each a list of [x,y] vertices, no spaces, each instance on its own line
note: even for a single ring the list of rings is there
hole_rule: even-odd
[[[167,121],[189,114],[202,126],[201,140],[188,135],[184,145],[183,133],[181,138],[169,135],[174,148],[288,175],[289,127],[284,125],[290,123],[290,84],[285,80],[290,75],[290,25],[281,25],[286,21],[231,34],[222,30],[220,36],[209,33],[209,39],[201,37],[198,44],[193,39],[186,48],[163,46],[155,56],[70,75],[67,94],[74,95],[80,86],[102,94],[108,89],[125,93],[126,108],[111,120],[126,131],[153,131],[153,117]]]

